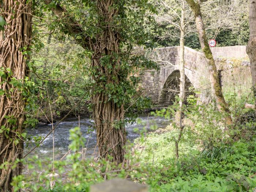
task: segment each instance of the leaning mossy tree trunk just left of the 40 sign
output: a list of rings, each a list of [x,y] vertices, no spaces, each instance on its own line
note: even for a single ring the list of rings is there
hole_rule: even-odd
[[[219,84],[218,71],[212,56],[210,46],[208,45],[208,41],[206,38],[200,4],[195,2],[194,0],[186,0],[186,1],[189,4],[189,7],[192,9],[195,16],[196,28],[199,35],[199,41],[200,41],[200,45],[203,50],[204,56],[207,59],[207,64],[208,64],[209,74],[210,74],[211,90],[216,100],[217,108],[220,112],[226,113],[225,114],[226,123],[228,125],[231,125],[233,121],[230,116],[229,107],[222,94],[221,86]]]

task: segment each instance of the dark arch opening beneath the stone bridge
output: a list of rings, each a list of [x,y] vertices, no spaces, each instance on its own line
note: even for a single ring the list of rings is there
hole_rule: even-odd
[[[192,89],[193,87],[190,80],[185,75],[185,101],[187,103],[187,97],[189,95],[194,95]],[[159,105],[172,105],[175,101],[176,95],[180,93],[180,71],[175,70],[168,76],[163,85],[163,89],[161,91]]]

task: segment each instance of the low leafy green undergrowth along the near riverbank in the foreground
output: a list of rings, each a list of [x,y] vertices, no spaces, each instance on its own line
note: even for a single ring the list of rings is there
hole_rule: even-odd
[[[226,125],[221,123],[223,114],[216,110],[215,105],[196,105],[195,101],[195,97],[190,97],[184,108],[184,131],[178,159],[175,157],[175,140],[180,130],[170,118],[177,107],[174,103],[168,109],[152,112],[155,116],[169,119],[169,126],[159,131],[153,124],[150,128],[155,131],[150,133],[147,129],[138,130],[141,137],[134,144],[127,145],[125,157],[129,163],[116,166],[102,159],[82,160],[82,154],[76,152],[85,147],[86,140],[77,127],[70,131],[72,143],[69,148],[72,152],[67,161],[54,162],[54,177],[49,176],[53,173],[52,165],[48,164],[51,160],[45,162],[34,157],[29,159],[33,162],[33,165],[28,165],[29,169],[36,166],[44,170],[38,182],[31,182],[38,174],[31,172],[30,176],[16,177],[12,184],[17,189],[29,187],[42,192],[87,192],[91,184],[102,182],[104,178],[128,176],[147,184],[152,192],[252,192],[256,187],[255,111],[241,109],[237,105],[232,110],[239,113],[234,117],[236,127],[225,129]],[[141,121],[138,119],[137,123]],[[53,181],[55,185],[49,189]]]

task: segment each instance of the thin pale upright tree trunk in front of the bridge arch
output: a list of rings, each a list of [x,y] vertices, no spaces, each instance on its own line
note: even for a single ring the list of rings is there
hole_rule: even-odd
[[[182,135],[182,105],[185,99],[185,68],[184,68],[184,30],[185,30],[185,0],[182,0],[181,5],[181,20],[180,20],[180,94],[179,94],[179,110],[176,113],[176,119],[179,122],[180,134],[175,143],[176,158],[179,157],[178,144]]]

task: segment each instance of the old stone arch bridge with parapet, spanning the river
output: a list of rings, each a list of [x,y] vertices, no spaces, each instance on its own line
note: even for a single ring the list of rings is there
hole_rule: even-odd
[[[218,58],[245,59],[245,46],[227,46],[211,48],[215,60]],[[207,89],[202,87],[202,82],[209,82],[206,59],[202,52],[185,47],[185,76],[186,95],[191,94],[190,87],[194,89]],[[155,49],[152,58],[160,65],[160,70],[146,70],[142,77],[144,93],[151,97],[153,102],[159,106],[170,105],[179,93],[180,83],[180,47],[172,46]],[[218,64],[217,64],[218,68]]]

